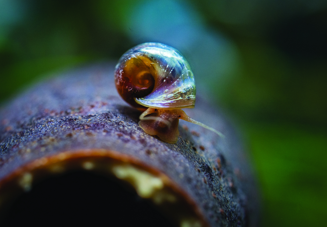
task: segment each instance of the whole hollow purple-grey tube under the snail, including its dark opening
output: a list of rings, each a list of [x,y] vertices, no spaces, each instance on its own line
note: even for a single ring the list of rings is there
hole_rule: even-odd
[[[146,134],[118,95],[113,64],[58,73],[0,110],[1,226],[257,226],[247,153],[221,111],[197,95],[169,144]],[[199,93],[199,91],[198,91]]]

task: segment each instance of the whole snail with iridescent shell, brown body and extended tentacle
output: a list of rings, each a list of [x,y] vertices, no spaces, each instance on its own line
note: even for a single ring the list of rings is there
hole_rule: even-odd
[[[168,143],[176,143],[179,119],[198,124],[181,108],[194,108],[195,81],[189,64],[173,47],[148,42],[129,49],[118,61],[115,84],[120,96],[144,111],[140,127]]]

